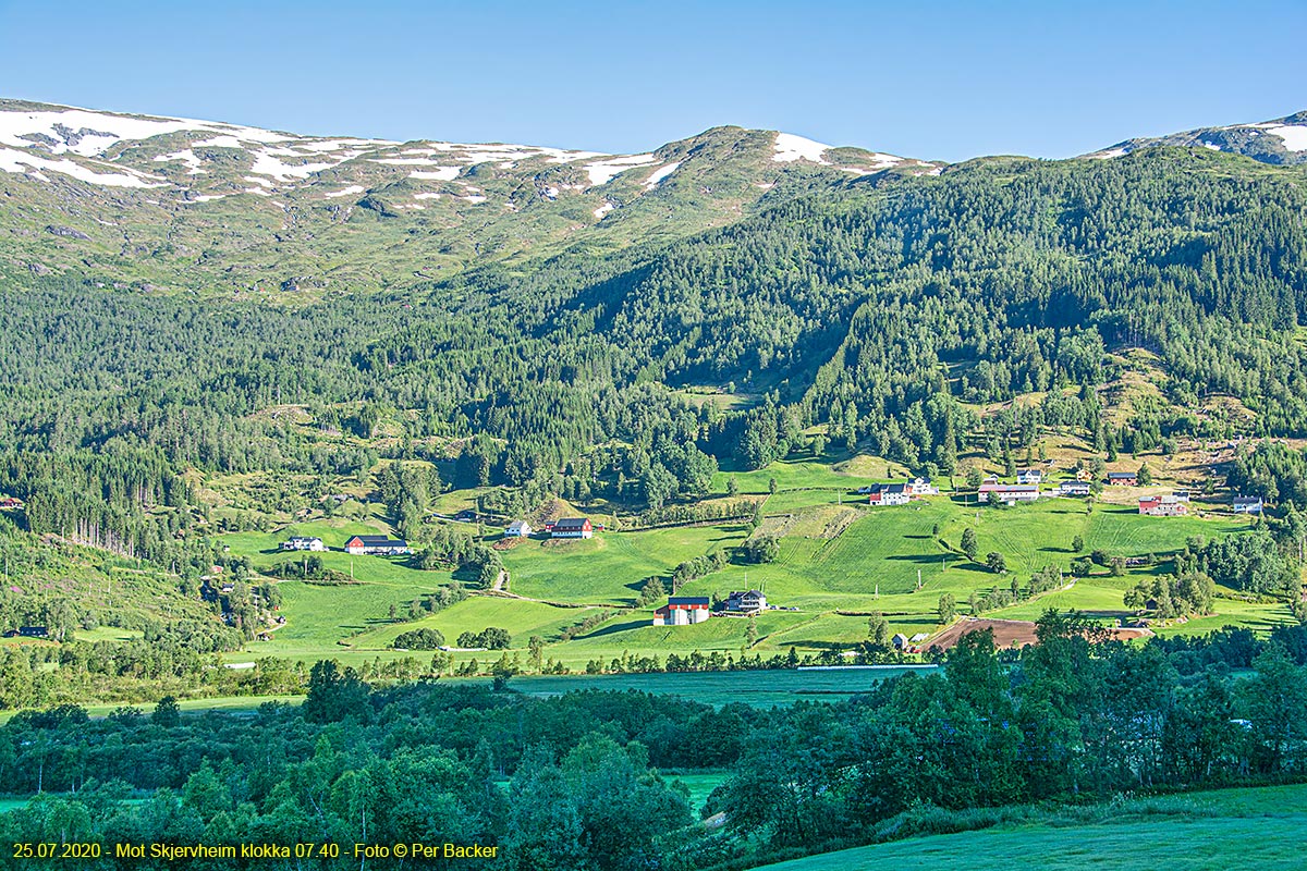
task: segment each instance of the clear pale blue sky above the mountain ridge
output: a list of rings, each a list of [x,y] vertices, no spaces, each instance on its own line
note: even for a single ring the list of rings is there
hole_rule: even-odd
[[[0,95],[395,140],[637,151],[740,124],[1069,157],[1307,108],[1304,34],[1307,0],[0,0]]]

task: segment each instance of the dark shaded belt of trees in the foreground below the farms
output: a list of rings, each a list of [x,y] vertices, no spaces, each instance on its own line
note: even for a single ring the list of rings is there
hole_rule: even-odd
[[[511,680],[371,689],[324,661],[301,708],[179,716],[165,701],[150,716],[122,708],[93,721],[73,705],[25,712],[0,727],[0,782],[44,794],[0,815],[0,833],[7,846],[341,845],[340,859],[311,864],[193,868],[358,867],[356,842],[451,841],[499,845],[488,867],[690,871],[1002,819],[975,808],[1307,774],[1302,628],[1136,648],[1048,614],[1039,641],[1000,654],[972,633],[940,674],[791,708],[637,692],[537,699]],[[674,772],[704,769],[731,776],[695,819]]]

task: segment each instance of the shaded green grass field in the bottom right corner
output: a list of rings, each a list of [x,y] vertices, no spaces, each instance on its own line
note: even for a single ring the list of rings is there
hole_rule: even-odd
[[[1099,819],[1076,825],[1081,817]],[[966,867],[1081,871],[1300,868],[1307,786],[1195,793],[1069,808],[1048,823],[914,837],[765,866],[769,871]]]

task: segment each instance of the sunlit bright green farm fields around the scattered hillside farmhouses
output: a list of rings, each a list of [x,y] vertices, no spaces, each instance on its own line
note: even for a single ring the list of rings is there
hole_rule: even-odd
[[[358,582],[349,586],[282,582],[281,614],[286,624],[273,633],[273,640],[251,642],[247,650],[229,659],[336,657],[357,665],[376,657],[408,656],[391,649],[395,636],[406,629],[433,627],[452,644],[464,631],[480,632],[490,626],[508,629],[516,650],[524,650],[532,635],[544,637],[546,657],[574,670],[591,659],[608,661],[623,652],[665,656],[698,649],[737,654],[745,642],[744,620],[654,627],[651,609],[630,610],[644,578],[657,576],[669,584],[677,564],[714,551],[725,552],[731,558],[728,564],[689,581],[681,594],[724,597],[736,589],[763,589],[774,606],[795,610],[759,616],[753,652],[770,656],[793,645],[800,653],[816,653],[864,640],[868,611],[884,612],[893,632],[933,633],[941,628],[937,605],[945,593],[965,610],[972,593],[1006,588],[1013,576],[1026,582],[1031,573],[1050,565],[1068,572],[1073,559],[1093,550],[1119,556],[1157,555],[1165,560],[1189,537],[1214,538],[1247,528],[1246,520],[1219,513],[1141,517],[1132,505],[1106,503],[1086,511],[1086,501],[1078,499],[992,508],[976,505],[974,496],[968,501],[963,495],[945,492],[910,505],[872,508],[853,491],[886,470],[881,460],[855,457],[838,469],[800,460],[735,475],[720,473],[715,488],[724,490],[727,479],[735,477],[744,494],[767,494],[770,479],[776,479],[778,490],[766,496],[763,505],[763,531],[780,537],[779,559],[770,564],[749,565],[735,556],[735,548],[752,531],[738,522],[605,531],[591,541],[552,542],[537,537],[501,552],[510,571],[508,589],[520,599],[473,595],[417,622],[404,622],[409,602],[452,582],[450,572],[413,569],[401,558],[327,552],[322,558],[328,567],[352,572]],[[894,471],[902,474],[899,469]],[[948,488],[949,479],[937,483]],[[474,494],[444,494],[440,507],[469,504]],[[989,551],[1005,556],[1009,575],[995,575],[959,552],[966,529],[976,531],[982,559]],[[274,533],[227,534],[222,542],[233,552],[250,555],[256,569],[267,571],[301,558],[277,550],[290,534],[319,535],[339,548],[352,534],[378,531],[388,529],[370,515],[367,522],[320,520]],[[494,539],[498,530],[488,530],[488,535]],[[1072,539],[1077,535],[1084,539],[1082,554],[1072,552]],[[1111,577],[1106,569],[1095,568],[1089,577],[1074,581],[1068,573],[1064,589],[988,616],[1033,620],[1050,607],[1076,609],[1112,624],[1133,616],[1124,607],[1124,592],[1138,577],[1157,571],[1158,567],[1149,565],[1131,569],[1124,577]],[[625,612],[584,636],[561,642],[565,627],[595,611],[552,603]],[[391,620],[392,606],[400,622]],[[1283,605],[1253,605],[1235,598],[1218,598],[1217,610],[1216,615],[1158,631],[1196,633],[1231,623],[1268,631],[1289,619]],[[478,662],[484,658],[485,654],[478,656]]]

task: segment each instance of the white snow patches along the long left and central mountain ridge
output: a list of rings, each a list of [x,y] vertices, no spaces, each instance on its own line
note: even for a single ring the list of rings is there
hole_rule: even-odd
[[[850,159],[830,159],[833,151]],[[0,101],[0,171],[24,174],[39,182],[50,182],[52,174],[59,174],[101,187],[173,187],[186,192],[191,201],[201,202],[231,193],[267,196],[319,180],[332,187],[332,192],[323,196],[341,196],[341,189],[350,188],[342,188],[341,179],[323,176],[346,167],[363,171],[367,166],[386,167],[391,175],[401,172],[400,178],[430,183],[457,182],[472,167],[486,163],[499,170],[516,170],[519,165],[524,170],[575,166],[579,179],[562,185],[541,185],[548,198],[555,198],[563,189],[599,188],[622,174],[650,170],[642,184],[643,189],[652,191],[680,170],[684,161],[676,157],[660,159],[655,153],[605,154],[498,142],[400,144],[312,137],[221,121]],[[816,165],[855,175],[899,166],[921,167],[921,171],[937,168],[891,154],[833,149],[791,133],[775,135],[771,162]],[[450,193],[467,198],[468,192]]]

